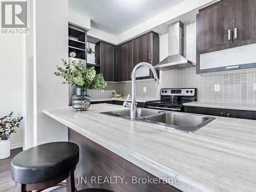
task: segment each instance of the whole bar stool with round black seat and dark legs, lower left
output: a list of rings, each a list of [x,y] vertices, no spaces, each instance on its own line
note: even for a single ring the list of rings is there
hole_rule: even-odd
[[[16,155],[11,162],[11,176],[16,191],[44,190],[67,186],[75,191],[74,170],[79,160],[79,146],[71,142],[41,144]],[[67,180],[67,184],[60,183]]]

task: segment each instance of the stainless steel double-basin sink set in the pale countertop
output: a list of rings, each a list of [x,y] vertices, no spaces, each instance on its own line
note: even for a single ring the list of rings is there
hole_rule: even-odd
[[[103,112],[101,114],[130,119],[130,109]],[[193,133],[215,119],[214,117],[204,115],[151,110],[144,108],[137,109],[137,117],[137,120],[141,122],[152,123],[167,129],[186,133]]]

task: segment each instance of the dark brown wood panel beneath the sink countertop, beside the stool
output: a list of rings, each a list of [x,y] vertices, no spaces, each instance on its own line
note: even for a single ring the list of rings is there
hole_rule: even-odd
[[[180,191],[162,180],[157,184],[132,182],[133,177],[147,180],[156,177],[70,128],[68,135],[69,141],[78,144],[80,148],[79,162],[75,170],[75,184],[78,190],[95,187],[115,192]],[[120,178],[123,178],[123,182]],[[106,180],[103,182],[104,179],[112,179],[112,183]]]

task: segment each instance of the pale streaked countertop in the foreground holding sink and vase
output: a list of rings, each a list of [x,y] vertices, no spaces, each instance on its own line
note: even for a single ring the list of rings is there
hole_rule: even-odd
[[[93,104],[43,113],[158,178],[178,177],[182,191],[254,191],[256,121],[216,117],[194,133],[99,114],[121,105]]]

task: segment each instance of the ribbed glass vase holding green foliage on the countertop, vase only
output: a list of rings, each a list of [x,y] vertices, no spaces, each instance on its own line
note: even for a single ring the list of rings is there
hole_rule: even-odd
[[[87,88],[76,87],[76,95],[72,97],[73,108],[76,111],[86,111],[90,108],[90,96],[87,95]]]

